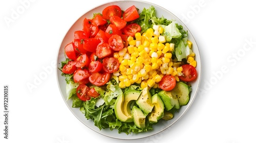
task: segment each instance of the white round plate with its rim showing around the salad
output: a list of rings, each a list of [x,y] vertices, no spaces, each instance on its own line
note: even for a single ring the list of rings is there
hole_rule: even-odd
[[[105,7],[110,6],[110,5],[118,5],[122,10],[125,10],[126,8],[129,8],[132,5],[135,5],[139,9],[139,13],[143,10],[143,8],[147,9],[147,8],[150,8],[150,6],[154,6],[158,17],[161,17],[163,15],[164,18],[175,19],[179,23],[179,25],[182,25],[183,29],[188,31],[188,39],[193,43],[193,51],[196,54],[196,61],[197,61],[196,69],[198,71],[198,78],[196,81],[191,83],[192,91],[190,94],[190,101],[186,106],[182,106],[180,108],[179,112],[177,112],[175,114],[175,116],[174,116],[174,118],[172,118],[172,120],[160,121],[157,125],[153,126],[154,129],[152,131],[127,135],[125,133],[118,133],[117,130],[113,130],[113,131],[111,131],[110,129],[99,130],[98,127],[94,126],[94,123],[92,120],[87,120],[84,117],[84,114],[82,114],[80,112],[79,108],[72,108],[72,100],[66,101],[66,97],[67,97],[66,81],[65,81],[65,77],[61,76],[61,71],[58,69],[58,67],[61,66],[61,61],[65,61],[64,47],[69,42],[73,41],[74,31],[82,30],[82,21],[85,17],[92,18],[94,13],[101,13]],[[166,10],[158,5],[148,3],[148,2],[143,2],[143,1],[116,1],[116,2],[114,1],[111,3],[106,3],[104,5],[101,5],[97,8],[93,8],[92,10],[88,11],[86,14],[82,15],[77,21],[75,21],[74,25],[69,29],[69,31],[63,38],[63,41],[60,44],[58,55],[57,55],[57,66],[56,67],[57,67],[56,74],[57,74],[57,82],[58,82],[59,90],[60,90],[61,96],[63,98],[63,101],[67,104],[70,111],[78,118],[78,120],[80,122],[82,122],[84,125],[86,125],[90,129],[92,129],[93,131],[98,132],[99,134],[102,134],[102,135],[105,135],[108,137],[112,137],[112,138],[117,138],[117,139],[144,138],[144,137],[148,137],[151,135],[155,135],[155,134],[169,128],[170,126],[172,126],[174,123],[176,123],[179,120],[179,118],[181,118],[184,115],[184,113],[188,110],[190,105],[193,103],[193,101],[196,97],[196,94],[197,94],[197,91],[199,88],[200,79],[201,79],[201,61],[200,61],[200,53],[199,53],[198,45],[196,43],[196,40],[192,36],[192,34],[187,29],[187,27],[184,25],[184,23],[178,17],[176,17],[173,13],[169,12],[168,10]]]

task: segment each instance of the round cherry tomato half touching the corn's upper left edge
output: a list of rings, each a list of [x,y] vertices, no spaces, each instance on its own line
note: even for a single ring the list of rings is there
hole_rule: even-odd
[[[110,45],[111,49],[114,51],[122,50],[124,47],[122,37],[117,34],[112,35],[109,38],[109,45]]]

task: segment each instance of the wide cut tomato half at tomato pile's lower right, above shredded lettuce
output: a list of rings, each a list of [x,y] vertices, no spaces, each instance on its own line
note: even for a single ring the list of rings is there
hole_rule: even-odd
[[[111,74],[108,72],[92,73],[91,76],[89,77],[89,81],[96,86],[102,86],[110,81],[110,77],[111,77]]]

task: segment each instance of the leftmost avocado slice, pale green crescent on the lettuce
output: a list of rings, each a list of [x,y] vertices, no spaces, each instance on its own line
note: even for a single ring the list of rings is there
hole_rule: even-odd
[[[131,117],[128,117],[124,114],[123,111],[123,102],[124,102],[124,94],[120,94],[115,102],[115,106],[114,106],[114,110],[115,110],[115,114],[116,117],[122,121],[122,122],[127,122],[131,120]]]

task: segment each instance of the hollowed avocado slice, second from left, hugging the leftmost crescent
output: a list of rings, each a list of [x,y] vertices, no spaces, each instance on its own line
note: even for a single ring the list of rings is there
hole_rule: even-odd
[[[133,122],[133,116],[131,113],[131,103],[136,101],[141,94],[141,91],[137,90],[127,90],[124,92],[124,102],[123,102],[123,113],[130,119],[126,122]]]

